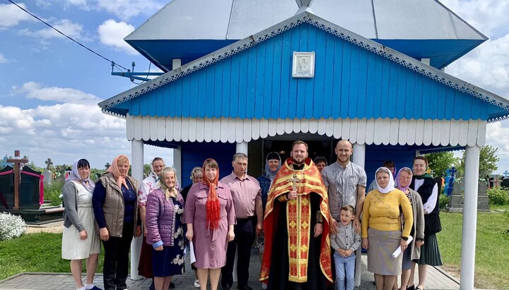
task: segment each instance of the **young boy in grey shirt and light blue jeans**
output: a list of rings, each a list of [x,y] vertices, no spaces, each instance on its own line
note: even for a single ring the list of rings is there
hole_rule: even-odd
[[[331,236],[331,246],[334,249],[334,264],[336,267],[336,289],[353,290],[355,272],[355,251],[361,246],[361,235],[353,229],[355,209],[351,205],[341,207],[339,214],[339,230]]]

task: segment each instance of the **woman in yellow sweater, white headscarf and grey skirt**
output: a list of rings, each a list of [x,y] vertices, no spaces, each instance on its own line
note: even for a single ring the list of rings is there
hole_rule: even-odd
[[[362,247],[368,250],[368,271],[375,273],[376,289],[392,289],[402,265],[402,255],[393,258],[392,253],[398,246],[406,248],[414,215],[406,195],[394,188],[389,169],[377,169],[375,179],[377,189],[364,200]],[[406,220],[403,231],[400,210]]]

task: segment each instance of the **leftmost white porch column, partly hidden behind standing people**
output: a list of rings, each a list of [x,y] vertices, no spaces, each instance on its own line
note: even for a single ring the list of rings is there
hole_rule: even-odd
[[[139,183],[144,179],[143,171],[143,155],[144,155],[144,144],[143,140],[131,140],[131,175],[136,181]],[[134,188],[135,191],[138,191],[138,188]],[[134,221],[136,222],[136,221]],[[133,238],[131,242],[131,279],[139,280],[141,276],[138,274],[138,263],[139,263],[139,254],[141,252],[141,243],[143,242],[143,237]]]

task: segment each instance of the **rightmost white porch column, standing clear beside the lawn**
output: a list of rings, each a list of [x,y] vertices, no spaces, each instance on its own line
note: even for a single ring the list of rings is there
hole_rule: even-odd
[[[465,150],[460,289],[474,289],[479,152],[478,145],[467,146]]]

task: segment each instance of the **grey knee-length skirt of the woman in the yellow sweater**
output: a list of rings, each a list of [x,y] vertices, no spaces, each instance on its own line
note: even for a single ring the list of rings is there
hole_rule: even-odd
[[[402,269],[402,256],[392,257],[399,247],[401,231],[379,231],[368,229],[368,271],[380,275],[399,275]]]

